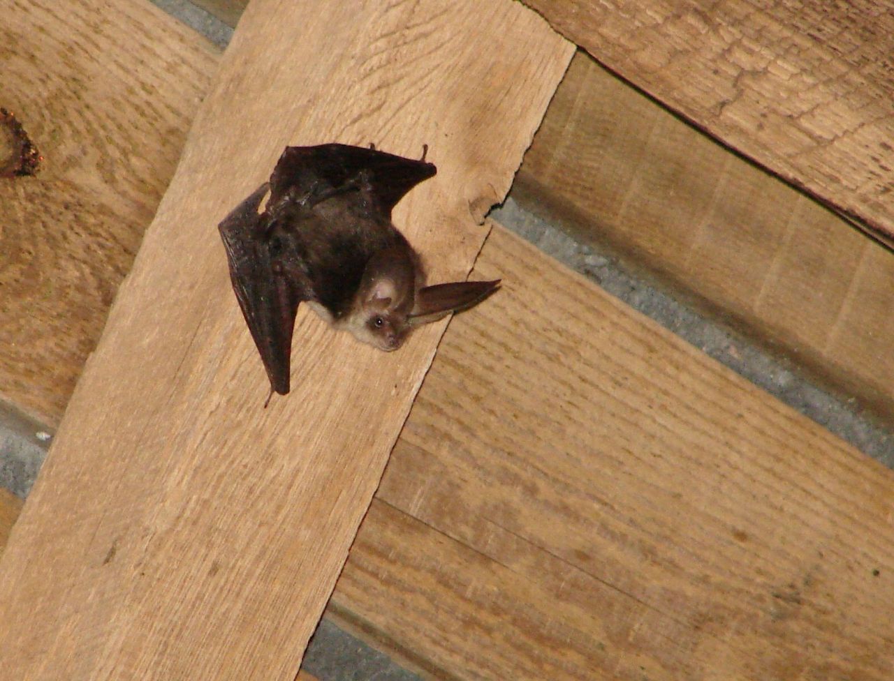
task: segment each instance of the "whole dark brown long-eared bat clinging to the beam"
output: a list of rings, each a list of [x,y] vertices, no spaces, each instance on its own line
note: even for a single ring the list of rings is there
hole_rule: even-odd
[[[471,307],[500,283],[425,285],[419,256],[391,219],[397,202],[436,172],[425,150],[412,160],[372,145],[286,147],[270,181],[218,225],[271,391],[289,392],[301,302],[359,341],[394,350],[417,324]]]

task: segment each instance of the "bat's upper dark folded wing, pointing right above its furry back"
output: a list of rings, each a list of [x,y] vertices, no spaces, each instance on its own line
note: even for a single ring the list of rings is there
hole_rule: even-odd
[[[437,169],[422,160],[387,154],[367,147],[324,144],[318,147],[286,147],[270,178],[271,200],[292,190],[293,196],[325,196],[362,179],[375,209],[391,217],[392,208],[419,182]]]

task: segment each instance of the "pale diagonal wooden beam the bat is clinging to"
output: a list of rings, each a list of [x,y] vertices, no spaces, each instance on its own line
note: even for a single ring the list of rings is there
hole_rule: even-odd
[[[0,562],[11,677],[294,677],[444,324],[301,315],[265,411],[215,224],[288,143],[428,142],[395,219],[464,276],[572,52],[508,0],[249,6]]]

